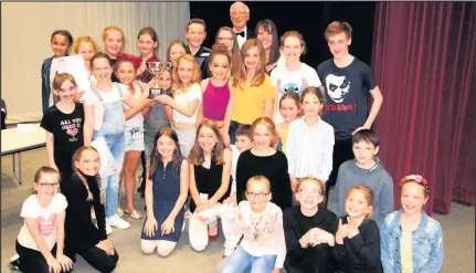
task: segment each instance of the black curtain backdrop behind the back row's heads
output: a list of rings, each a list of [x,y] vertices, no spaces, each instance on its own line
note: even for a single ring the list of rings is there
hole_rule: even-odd
[[[230,6],[233,2],[190,2],[190,18],[201,18],[207,23],[203,44],[211,48],[216,31],[231,27]],[[299,31],[307,44],[302,61],[316,69],[330,59],[324,31],[334,20],[347,21],[353,29],[350,53],[367,64],[372,64],[372,42],[375,2],[245,2],[250,8],[248,28],[254,30],[262,19],[271,19],[278,35],[288,30]]]

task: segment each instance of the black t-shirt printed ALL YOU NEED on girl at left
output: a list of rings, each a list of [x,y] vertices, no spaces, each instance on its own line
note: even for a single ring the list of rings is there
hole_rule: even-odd
[[[53,134],[55,155],[73,154],[84,145],[83,104],[75,103],[74,111],[71,114],[64,114],[56,105],[51,106],[41,119],[40,126]]]

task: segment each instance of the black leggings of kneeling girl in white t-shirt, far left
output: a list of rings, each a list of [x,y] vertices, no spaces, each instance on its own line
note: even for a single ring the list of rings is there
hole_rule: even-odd
[[[20,270],[23,273],[49,273],[46,259],[38,250],[32,250],[21,245],[18,240],[15,243],[17,253],[20,256]],[[53,256],[56,255],[56,245],[51,250]],[[67,273],[71,271],[61,271]]]

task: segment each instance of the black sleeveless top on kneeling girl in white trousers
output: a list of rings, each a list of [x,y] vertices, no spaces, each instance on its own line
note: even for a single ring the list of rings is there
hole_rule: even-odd
[[[197,189],[200,193],[209,195],[209,199],[213,197],[213,195],[219,190],[220,186],[222,185],[223,166],[224,165],[216,165],[213,160],[210,165],[210,169],[203,167],[202,165],[193,166]],[[231,176],[230,181],[232,181]],[[231,187],[229,186],[226,192],[219,200],[219,202],[222,202],[226,199],[226,197],[230,196],[230,189]],[[190,211],[193,212],[195,208],[197,206],[192,199],[190,202]]]

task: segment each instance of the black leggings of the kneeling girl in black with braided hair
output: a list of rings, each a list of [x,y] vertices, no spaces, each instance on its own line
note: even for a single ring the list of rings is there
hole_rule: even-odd
[[[108,255],[104,250],[92,246],[89,249],[77,252],[91,266],[101,273],[110,273],[116,269],[119,255],[116,249],[114,249],[114,255]],[[73,254],[67,253],[67,255],[73,259]]]

